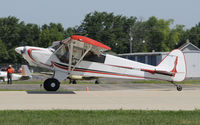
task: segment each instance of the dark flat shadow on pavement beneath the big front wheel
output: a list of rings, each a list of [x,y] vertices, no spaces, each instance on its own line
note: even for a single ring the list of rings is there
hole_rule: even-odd
[[[26,91],[27,94],[76,94],[73,91]]]

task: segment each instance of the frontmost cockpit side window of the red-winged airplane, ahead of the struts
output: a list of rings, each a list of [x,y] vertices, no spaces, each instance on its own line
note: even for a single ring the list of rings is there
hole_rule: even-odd
[[[57,52],[56,56],[63,63],[69,63],[69,49],[68,46],[62,46]]]

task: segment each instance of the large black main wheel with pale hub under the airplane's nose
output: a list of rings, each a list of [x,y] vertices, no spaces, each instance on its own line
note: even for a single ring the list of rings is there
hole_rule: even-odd
[[[44,81],[44,89],[47,91],[56,91],[60,87],[60,82],[57,79],[49,78]]]

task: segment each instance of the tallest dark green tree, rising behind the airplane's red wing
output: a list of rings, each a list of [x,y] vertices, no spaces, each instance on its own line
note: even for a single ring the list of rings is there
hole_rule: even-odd
[[[130,28],[135,22],[135,17],[95,11],[85,16],[77,32],[103,42],[114,52],[129,52]]]

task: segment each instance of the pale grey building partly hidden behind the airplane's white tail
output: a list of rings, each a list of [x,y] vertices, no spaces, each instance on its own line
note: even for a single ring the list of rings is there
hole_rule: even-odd
[[[186,78],[200,78],[200,49],[190,42],[186,42],[180,46],[179,49],[183,51],[186,59]],[[169,52],[125,53],[118,54],[118,56],[156,66],[168,53]]]

